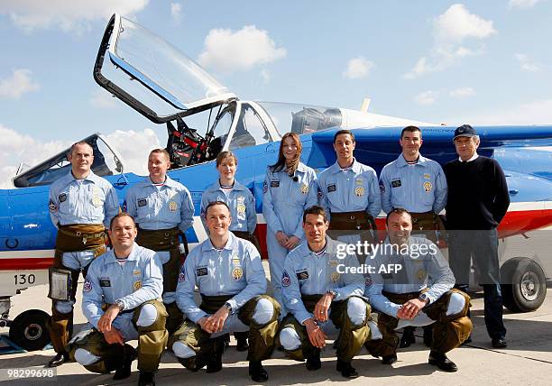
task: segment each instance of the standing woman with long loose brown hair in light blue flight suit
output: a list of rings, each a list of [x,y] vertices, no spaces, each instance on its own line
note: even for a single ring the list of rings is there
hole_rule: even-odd
[[[281,304],[284,259],[304,236],[301,218],[317,204],[317,175],[300,161],[303,146],[296,133],[281,137],[278,161],[267,168],[262,187],[262,213],[266,219],[266,245],[274,298]],[[281,317],[285,317],[285,308]]]

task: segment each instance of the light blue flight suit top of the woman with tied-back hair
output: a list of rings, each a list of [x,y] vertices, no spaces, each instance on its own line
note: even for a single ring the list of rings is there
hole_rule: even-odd
[[[230,207],[232,232],[247,232],[253,234],[257,226],[257,212],[255,210],[255,198],[251,191],[238,181],[234,181],[232,190],[228,193],[220,188],[220,181],[216,181],[207,188],[201,196],[201,221],[208,234],[205,209],[211,202],[222,201]]]

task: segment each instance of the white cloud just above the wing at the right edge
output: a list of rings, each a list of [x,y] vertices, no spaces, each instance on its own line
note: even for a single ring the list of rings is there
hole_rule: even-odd
[[[461,119],[447,122],[470,122],[473,124],[552,124],[552,98],[540,99],[517,106],[505,106]]]

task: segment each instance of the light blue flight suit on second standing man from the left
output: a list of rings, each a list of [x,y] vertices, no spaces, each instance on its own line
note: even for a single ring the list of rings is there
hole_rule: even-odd
[[[174,179],[170,179],[169,176],[160,187],[155,186],[152,180],[146,177],[129,188],[126,192],[123,209],[134,217],[140,230],[161,231],[178,227],[178,230],[184,233],[194,223],[194,204],[188,188]],[[147,233],[142,232],[141,234],[140,230],[136,242],[157,250],[156,246],[160,245],[162,235],[153,234],[151,237],[143,239]],[[168,306],[170,312],[169,305],[175,301],[174,289],[180,268],[178,232],[171,234],[169,238],[168,243],[171,244],[163,245],[166,248],[156,252],[159,254],[165,270],[164,280],[171,281],[171,283],[164,283],[165,291],[163,292],[163,302]],[[173,251],[172,259],[168,249]],[[175,261],[173,262],[173,260]],[[167,265],[168,263],[170,265]]]

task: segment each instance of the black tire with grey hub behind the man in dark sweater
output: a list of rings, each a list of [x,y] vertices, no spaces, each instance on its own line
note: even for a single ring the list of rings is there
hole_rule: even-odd
[[[539,308],[547,297],[547,280],[538,262],[516,258],[501,268],[502,301],[511,312],[529,312]]]

